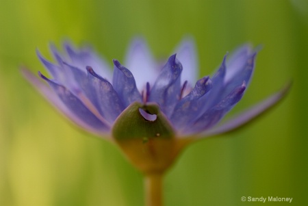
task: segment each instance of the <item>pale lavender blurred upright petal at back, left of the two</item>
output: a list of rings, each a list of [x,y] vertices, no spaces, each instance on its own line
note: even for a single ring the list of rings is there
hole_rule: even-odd
[[[125,66],[133,73],[140,91],[144,89],[146,82],[154,83],[159,74],[153,55],[142,38],[131,42],[125,57]]]

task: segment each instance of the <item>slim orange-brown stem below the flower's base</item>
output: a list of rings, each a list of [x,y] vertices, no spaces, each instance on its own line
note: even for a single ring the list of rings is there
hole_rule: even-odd
[[[146,206],[162,206],[163,173],[146,174],[144,177]]]

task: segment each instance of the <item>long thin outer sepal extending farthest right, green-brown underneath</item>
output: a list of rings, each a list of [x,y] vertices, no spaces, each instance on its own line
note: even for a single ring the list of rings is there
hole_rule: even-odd
[[[231,120],[227,121],[227,123],[201,133],[199,138],[229,133],[248,125],[248,123],[253,122],[253,120],[257,119],[259,116],[266,114],[266,112],[277,105],[277,103],[279,103],[286,96],[290,88],[291,83],[287,83],[287,85],[279,92],[272,94],[264,101],[261,101],[261,103],[257,103],[255,106],[246,110],[246,112],[242,112],[242,114],[236,116],[235,118],[231,118]]]

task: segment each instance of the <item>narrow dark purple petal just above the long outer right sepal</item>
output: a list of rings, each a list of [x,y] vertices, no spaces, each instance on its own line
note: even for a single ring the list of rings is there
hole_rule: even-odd
[[[192,127],[183,128],[183,133],[197,133],[203,131],[209,127],[213,127],[218,121],[225,115],[231,108],[242,99],[244,90],[246,89],[245,82],[242,86],[238,86],[231,91],[222,101],[211,107],[207,112],[202,114],[198,120],[196,120]]]

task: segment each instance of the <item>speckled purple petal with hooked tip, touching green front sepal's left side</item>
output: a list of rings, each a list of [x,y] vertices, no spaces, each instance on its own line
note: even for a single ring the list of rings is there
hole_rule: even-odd
[[[87,67],[87,70],[92,90],[95,92],[99,102],[101,115],[110,123],[113,123],[125,107],[109,81],[94,73],[90,66]]]

